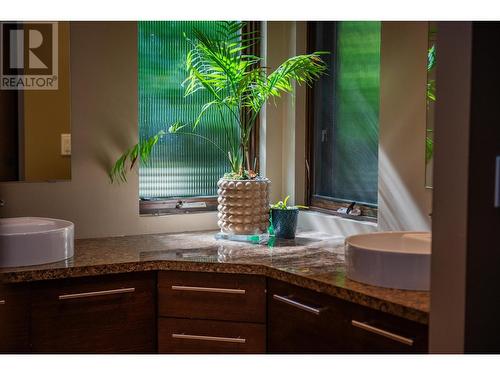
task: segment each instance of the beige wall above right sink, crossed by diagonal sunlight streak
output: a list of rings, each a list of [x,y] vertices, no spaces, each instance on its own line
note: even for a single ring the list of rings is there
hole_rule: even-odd
[[[430,230],[425,188],[427,22],[382,22],[379,229]]]

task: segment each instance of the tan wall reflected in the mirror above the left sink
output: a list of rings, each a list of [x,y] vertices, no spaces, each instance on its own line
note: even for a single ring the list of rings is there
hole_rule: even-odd
[[[61,134],[71,133],[69,22],[58,24],[58,90],[25,90],[24,180],[71,178],[71,157],[61,155]]]

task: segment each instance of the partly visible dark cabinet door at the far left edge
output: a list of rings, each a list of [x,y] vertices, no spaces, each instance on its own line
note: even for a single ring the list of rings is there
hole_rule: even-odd
[[[0,353],[29,350],[28,287],[0,285]]]

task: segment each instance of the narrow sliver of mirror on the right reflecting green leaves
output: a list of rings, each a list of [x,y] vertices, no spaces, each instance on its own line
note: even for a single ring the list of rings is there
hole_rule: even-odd
[[[434,108],[436,104],[437,22],[429,22],[427,43],[427,121],[425,129],[425,187],[432,188]]]

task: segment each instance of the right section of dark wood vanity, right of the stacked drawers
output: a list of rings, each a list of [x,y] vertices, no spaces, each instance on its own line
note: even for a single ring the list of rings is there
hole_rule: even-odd
[[[268,281],[270,353],[425,353],[427,326]]]

